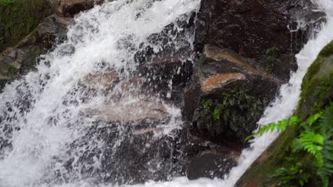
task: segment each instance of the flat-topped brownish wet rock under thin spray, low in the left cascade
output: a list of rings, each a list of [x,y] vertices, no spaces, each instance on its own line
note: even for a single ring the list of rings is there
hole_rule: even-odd
[[[122,102],[98,110],[85,111],[95,123],[70,145],[66,159],[59,160],[65,167],[65,172],[61,171],[63,178],[79,174],[122,184],[166,181],[177,173],[180,132],[169,124],[171,116],[162,103]]]

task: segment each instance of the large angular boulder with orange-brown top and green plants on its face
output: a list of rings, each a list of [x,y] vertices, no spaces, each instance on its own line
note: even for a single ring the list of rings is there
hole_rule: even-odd
[[[255,130],[280,81],[231,50],[205,45],[184,94],[184,115],[199,135],[241,147]]]

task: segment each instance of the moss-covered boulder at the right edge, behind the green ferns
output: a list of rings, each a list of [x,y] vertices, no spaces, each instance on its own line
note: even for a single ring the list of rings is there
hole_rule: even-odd
[[[322,111],[333,101],[333,41],[329,43],[319,53],[317,60],[313,62],[307,70],[302,82],[302,94],[297,107],[296,115],[301,120],[305,120],[311,114]],[[236,186],[268,186],[270,172],[273,169],[285,166],[290,157],[290,147],[292,140],[300,135],[295,126],[289,126],[273,142],[268,149],[250,166],[243,174]],[[309,154],[293,154],[293,159],[302,164],[310,162]],[[309,179],[305,186],[322,186],[316,171],[308,168]],[[332,180],[331,180],[332,181]],[[331,182],[331,185],[333,183]]]

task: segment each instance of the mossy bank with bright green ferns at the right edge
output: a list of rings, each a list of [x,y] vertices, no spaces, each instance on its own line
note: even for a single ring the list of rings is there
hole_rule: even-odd
[[[294,116],[255,132],[280,130],[281,134],[238,186],[333,186],[332,94],[333,41],[307,70]]]

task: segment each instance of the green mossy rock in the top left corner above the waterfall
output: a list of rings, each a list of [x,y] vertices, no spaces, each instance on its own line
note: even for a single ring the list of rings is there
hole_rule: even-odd
[[[51,13],[46,0],[0,0],[0,51],[16,45]]]

